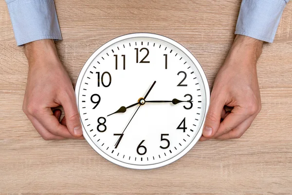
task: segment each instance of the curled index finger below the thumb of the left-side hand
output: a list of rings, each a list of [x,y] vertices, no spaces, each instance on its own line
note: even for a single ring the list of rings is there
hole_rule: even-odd
[[[71,139],[76,139],[70,134],[67,127],[61,125],[59,120],[53,115],[51,108],[44,108],[36,113],[34,116],[41,125],[55,136],[61,136]]]

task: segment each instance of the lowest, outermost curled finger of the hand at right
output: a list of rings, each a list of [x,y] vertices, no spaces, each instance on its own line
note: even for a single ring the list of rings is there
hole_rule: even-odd
[[[251,126],[255,117],[249,117],[247,120],[243,121],[240,125],[238,125],[235,129],[223,134],[219,137],[215,137],[216,139],[234,139],[241,137],[244,132]]]

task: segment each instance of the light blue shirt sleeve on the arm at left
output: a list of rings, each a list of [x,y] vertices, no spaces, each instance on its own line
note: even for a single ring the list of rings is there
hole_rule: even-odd
[[[54,0],[6,0],[18,46],[39,39],[61,40]]]

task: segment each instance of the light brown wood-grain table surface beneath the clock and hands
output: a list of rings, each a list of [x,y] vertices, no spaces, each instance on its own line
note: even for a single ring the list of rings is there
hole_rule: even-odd
[[[85,61],[117,36],[151,32],[183,44],[210,87],[231,43],[241,0],[55,0],[60,59],[75,84]],[[45,141],[22,112],[27,60],[0,0],[0,194],[292,194],[292,3],[258,61],[262,110],[236,140],[199,142],[147,171],[119,167],[86,140]]]

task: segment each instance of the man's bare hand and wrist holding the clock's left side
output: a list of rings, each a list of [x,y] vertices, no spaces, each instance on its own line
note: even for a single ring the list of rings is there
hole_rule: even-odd
[[[67,71],[58,58],[52,39],[24,45],[29,71],[23,112],[45,140],[83,139],[75,93]],[[65,117],[59,122],[62,105]]]

